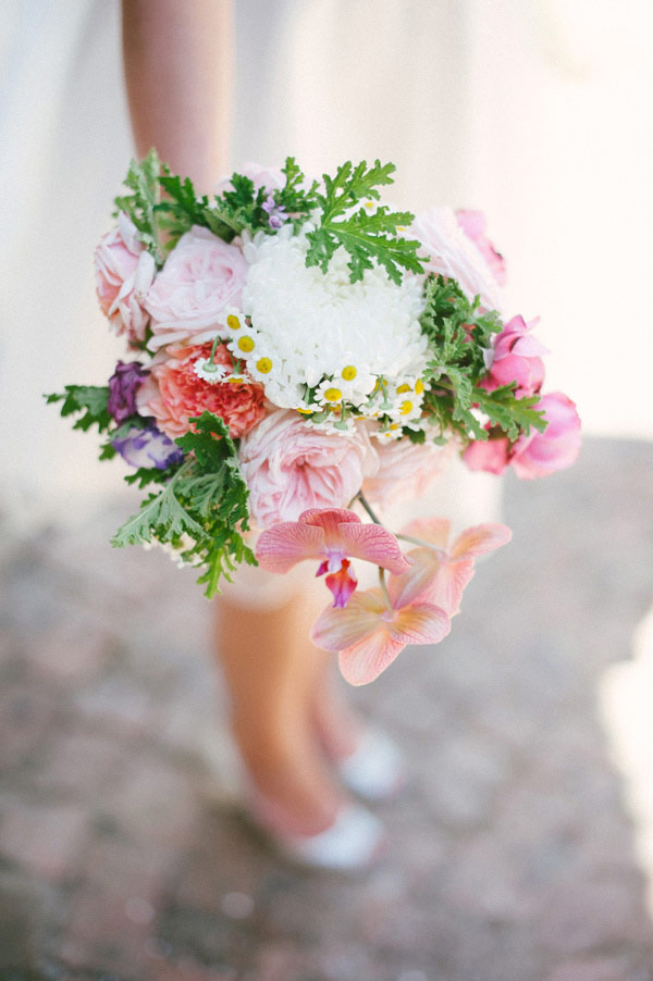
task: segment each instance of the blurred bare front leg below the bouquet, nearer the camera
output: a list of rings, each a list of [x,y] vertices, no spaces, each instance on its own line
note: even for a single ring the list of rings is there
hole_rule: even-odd
[[[316,834],[344,803],[315,736],[316,665],[307,641],[315,610],[301,594],[280,609],[220,601],[218,656],[243,761],[278,833]]]

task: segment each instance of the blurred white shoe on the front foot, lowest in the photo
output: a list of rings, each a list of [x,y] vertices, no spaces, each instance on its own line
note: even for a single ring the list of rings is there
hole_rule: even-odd
[[[387,843],[381,821],[360,804],[342,807],[333,824],[318,834],[280,835],[259,822],[257,827],[291,861],[324,871],[366,871],[381,858]]]

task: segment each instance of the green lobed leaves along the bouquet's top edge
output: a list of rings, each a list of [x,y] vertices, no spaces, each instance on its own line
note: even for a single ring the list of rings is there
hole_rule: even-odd
[[[417,254],[419,243],[406,239],[401,228],[412,221],[408,211],[391,211],[385,204],[367,210],[365,201],[378,201],[379,188],[393,183],[396,167],[392,163],[372,166],[352,161],[338,166],[334,177],[323,175],[323,190],[317,181],[307,185],[303,171],[288,157],[282,172],[283,187],[273,191],[276,209],[295,227],[310,219],[313,231],[308,233],[307,265],[326,272],[333,254],[341,246],[349,253],[349,278],[361,280],[374,263],[382,265],[394,283],[402,282],[402,272],[423,272]],[[193,225],[201,225],[225,241],[243,232],[274,234],[270,215],[264,210],[269,191],[255,188],[252,181],[233,174],[231,186],[213,200],[197,197],[192,181],[171,173],[151,150],[141,163],[132,161],[125,184],[132,191],[115,199],[115,207],[132,219],[145,246],[151,250],[158,265]],[[163,194],[161,194],[163,191]],[[360,207],[358,207],[360,206]]]

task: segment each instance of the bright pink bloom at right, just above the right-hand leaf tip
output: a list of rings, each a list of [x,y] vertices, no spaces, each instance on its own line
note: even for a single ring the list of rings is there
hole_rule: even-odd
[[[537,320],[526,323],[522,316],[514,316],[494,339],[493,361],[490,372],[481,382],[483,388],[493,392],[502,385],[517,382],[517,398],[535,395],[544,382],[542,355],[547,348],[535,337],[528,335]]]

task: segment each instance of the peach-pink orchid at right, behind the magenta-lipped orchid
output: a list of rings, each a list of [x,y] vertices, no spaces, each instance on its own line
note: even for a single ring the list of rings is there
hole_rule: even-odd
[[[410,569],[390,578],[390,598],[402,606],[416,600],[431,603],[448,617],[460,609],[463,591],[473,576],[476,559],[501,548],[513,537],[505,524],[477,524],[465,529],[449,545],[451,521],[445,518],[411,521],[402,535],[422,544],[408,552]]]

